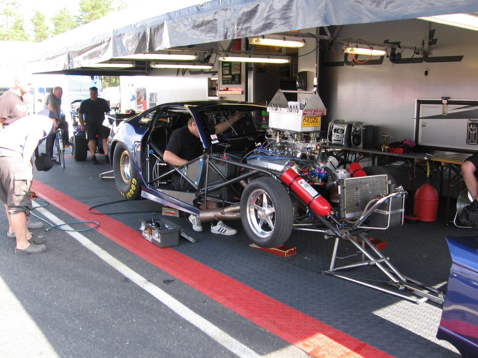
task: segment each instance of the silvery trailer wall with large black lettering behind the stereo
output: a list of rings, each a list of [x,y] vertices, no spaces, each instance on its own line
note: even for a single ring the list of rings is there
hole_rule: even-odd
[[[416,19],[346,25],[338,37],[400,41],[402,45],[421,47],[427,27],[428,22]],[[344,54],[329,52],[320,77],[320,95],[327,107],[325,122],[336,118],[346,122],[360,120],[374,125],[375,141],[382,133],[390,134],[392,141],[413,140],[416,98],[478,98],[478,32],[435,23],[430,23],[430,28],[435,30],[436,44],[432,45],[429,59],[463,56],[461,62],[393,64],[384,57],[381,64],[331,67],[327,63],[343,62]],[[339,48],[334,46],[336,51]],[[403,58],[412,54],[412,50],[402,53]],[[423,57],[415,55],[413,60]],[[358,57],[359,61],[366,59]],[[376,59],[379,57],[372,57]]]

